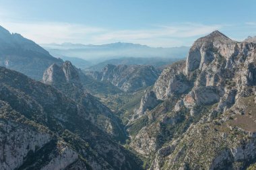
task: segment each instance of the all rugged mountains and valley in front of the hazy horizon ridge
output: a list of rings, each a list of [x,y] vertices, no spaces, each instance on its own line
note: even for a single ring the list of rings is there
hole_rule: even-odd
[[[1,170],[256,167],[253,37],[214,31],[165,69],[117,62],[101,71],[4,28],[0,44]],[[100,48],[127,45],[137,46]]]

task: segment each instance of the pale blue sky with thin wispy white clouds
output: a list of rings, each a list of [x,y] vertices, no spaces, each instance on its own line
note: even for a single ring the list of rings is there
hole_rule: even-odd
[[[191,46],[214,30],[256,36],[255,0],[0,0],[0,26],[38,44]]]

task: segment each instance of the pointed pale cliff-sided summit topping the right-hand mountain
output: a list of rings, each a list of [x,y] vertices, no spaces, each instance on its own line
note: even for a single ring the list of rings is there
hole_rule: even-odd
[[[238,42],[231,40],[219,31],[196,40],[189,50],[187,57],[185,75],[190,75],[195,69],[201,71],[206,68],[210,62],[222,62],[230,60],[230,58],[238,52]],[[216,58],[219,58],[216,60]],[[222,58],[222,59],[220,59]],[[226,63],[226,67],[230,67],[231,63]]]

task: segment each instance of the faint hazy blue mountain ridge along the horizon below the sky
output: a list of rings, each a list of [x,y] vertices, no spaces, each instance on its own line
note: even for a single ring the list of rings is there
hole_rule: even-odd
[[[103,45],[84,44],[41,44],[53,56],[69,56],[83,58],[94,62],[102,62],[113,58],[139,57],[139,58],[185,58],[189,52],[188,46],[172,48],[152,48],[150,46],[117,42]]]

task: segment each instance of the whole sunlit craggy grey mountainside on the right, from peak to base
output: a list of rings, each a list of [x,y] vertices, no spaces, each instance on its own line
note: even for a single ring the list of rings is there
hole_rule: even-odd
[[[151,169],[240,169],[253,163],[249,150],[255,150],[255,137],[250,135],[256,128],[241,124],[251,107],[241,102],[256,92],[255,52],[255,44],[216,31],[196,40],[186,61],[162,72],[153,91],[163,102],[146,114],[146,126],[131,142],[135,151],[154,160]],[[143,148],[152,139],[154,147]]]

